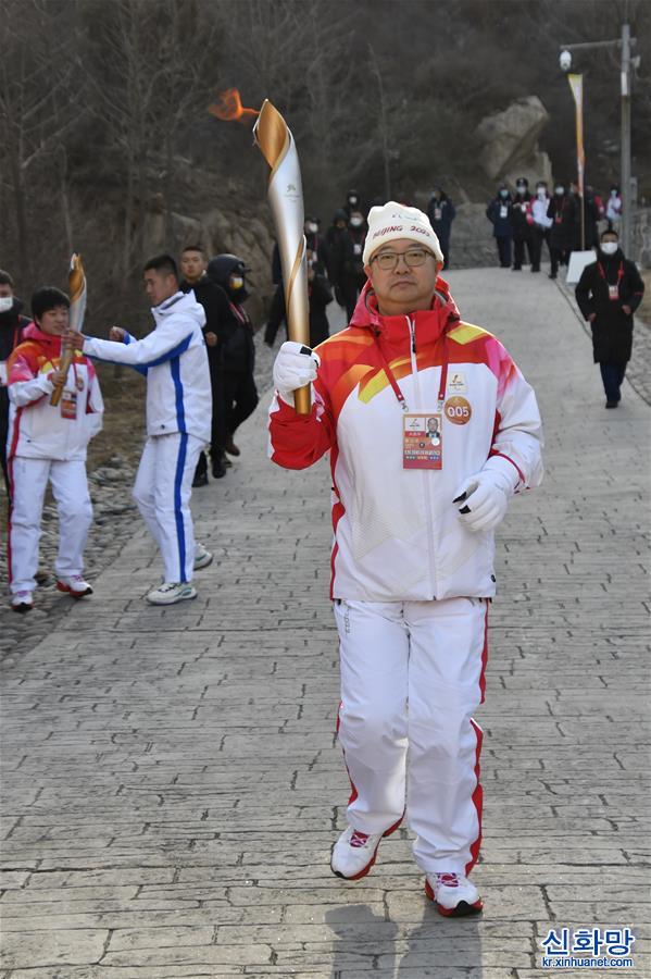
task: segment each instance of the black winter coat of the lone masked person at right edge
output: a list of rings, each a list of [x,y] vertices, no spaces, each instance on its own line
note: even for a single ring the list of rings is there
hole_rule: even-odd
[[[617,287],[617,298],[609,296],[609,285]],[[644,295],[644,283],[635,262],[625,259],[621,249],[615,255],[599,252],[598,261],[586,265],[575,289],[576,301],[592,330],[596,363],[626,363],[633,348],[633,312]],[[630,315],[623,306],[628,306]]]

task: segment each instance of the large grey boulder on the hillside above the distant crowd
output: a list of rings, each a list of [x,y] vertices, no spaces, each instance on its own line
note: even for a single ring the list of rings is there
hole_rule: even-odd
[[[508,183],[517,176],[528,177],[529,183],[550,182],[549,158],[538,149],[538,137],[548,122],[549,113],[538,96],[517,99],[503,112],[483,120],[475,135],[486,175]]]

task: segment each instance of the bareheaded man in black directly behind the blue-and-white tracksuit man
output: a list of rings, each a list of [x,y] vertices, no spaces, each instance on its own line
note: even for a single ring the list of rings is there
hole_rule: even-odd
[[[200,302],[205,310],[203,336],[205,339],[205,349],[208,351],[210,383],[213,395],[210,457],[212,474],[216,480],[220,480],[226,475],[226,466],[228,464],[225,455],[226,435],[224,401],[222,397],[222,349],[220,347],[224,324],[231,317],[228,296],[221,286],[211,282],[208,277],[206,256],[200,245],[187,245],[180,253],[179,265],[184,276],[179,284],[179,288],[184,293],[189,293],[191,289],[195,293],[197,301]],[[205,486],[206,483],[208,459],[205,458],[205,453],[201,453],[195,471],[192,486]]]

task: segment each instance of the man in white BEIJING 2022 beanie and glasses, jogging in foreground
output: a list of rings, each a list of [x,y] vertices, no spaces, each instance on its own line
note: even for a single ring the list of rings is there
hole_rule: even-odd
[[[315,352],[283,345],[270,435],[286,469],[330,453],[352,784],[333,871],[363,878],[406,815],[427,896],[466,915],[481,909],[468,879],[481,837],[472,714],[484,699],[493,531],[510,497],[541,480],[541,424],[502,344],[460,319],[442,262],[422,211],[373,208],[351,323]],[[293,392],[308,384],[312,408],[299,414]]]

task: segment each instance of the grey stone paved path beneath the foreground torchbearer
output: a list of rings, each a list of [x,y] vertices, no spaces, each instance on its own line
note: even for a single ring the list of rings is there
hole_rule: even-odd
[[[637,935],[635,968],[608,975],[651,976],[649,408],[627,387],[604,411],[546,276],[450,278],[547,430],[544,486],[498,544],[484,916],[433,913],[404,830],[361,883],[329,873],[348,784],[328,474],[271,467],[261,410],[195,496],[216,557],[196,602],[142,602],[159,561],[138,528],[91,600],[4,660],[0,979],[539,979],[550,927],[594,925]]]

